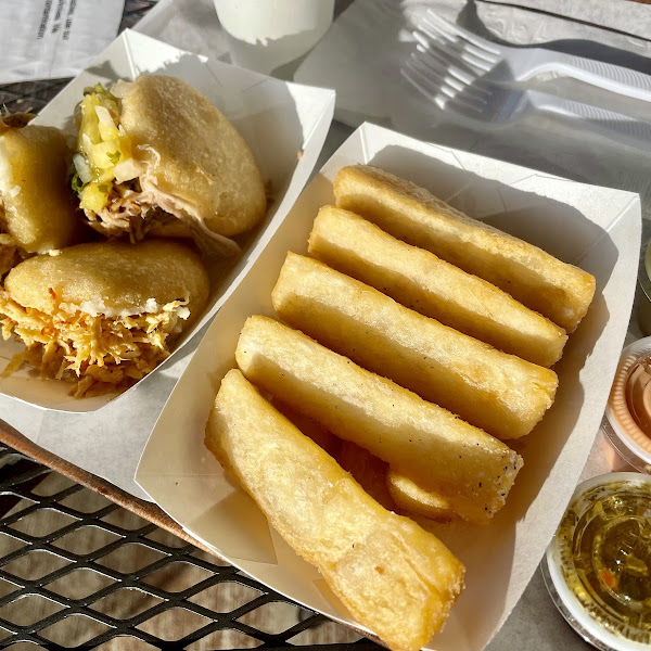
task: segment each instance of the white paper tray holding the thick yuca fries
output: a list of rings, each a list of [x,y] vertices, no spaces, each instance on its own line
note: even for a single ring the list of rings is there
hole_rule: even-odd
[[[467,566],[467,587],[429,648],[477,651],[497,633],[529,582],[599,429],[634,297],[641,226],[635,194],[362,125],[306,188],[215,318],[158,419],[136,481],[228,562],[311,609],[353,622],[318,572],[269,528],[252,499],[228,478],[204,448],[203,437],[221,378],[234,366],[245,319],[273,315],[271,289],[285,253],[306,253],[318,208],[333,202],[335,174],[355,163],[371,163],[424,186],[457,208],[577,264],[597,279],[592,306],[554,367],[560,386],[553,407],[531,435],[513,444],[525,465],[507,507],[487,527],[437,527],[437,535]]]

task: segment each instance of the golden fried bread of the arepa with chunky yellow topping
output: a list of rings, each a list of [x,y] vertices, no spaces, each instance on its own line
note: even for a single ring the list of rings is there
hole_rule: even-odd
[[[266,210],[260,171],[244,139],[201,92],[176,77],[136,79],[120,124],[153,187],[175,197],[209,230],[230,237]]]

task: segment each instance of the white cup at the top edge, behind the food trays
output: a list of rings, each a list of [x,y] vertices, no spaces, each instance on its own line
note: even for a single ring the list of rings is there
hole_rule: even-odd
[[[231,60],[266,75],[309,52],[332,23],[334,0],[215,0]]]

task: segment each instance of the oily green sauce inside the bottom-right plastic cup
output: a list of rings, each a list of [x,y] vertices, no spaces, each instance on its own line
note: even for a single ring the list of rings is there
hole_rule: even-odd
[[[557,533],[569,588],[615,635],[651,643],[651,484],[596,486]]]

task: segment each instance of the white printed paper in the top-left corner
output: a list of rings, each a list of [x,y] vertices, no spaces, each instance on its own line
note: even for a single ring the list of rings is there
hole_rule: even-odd
[[[117,35],[125,0],[3,0],[0,84],[74,77]]]

